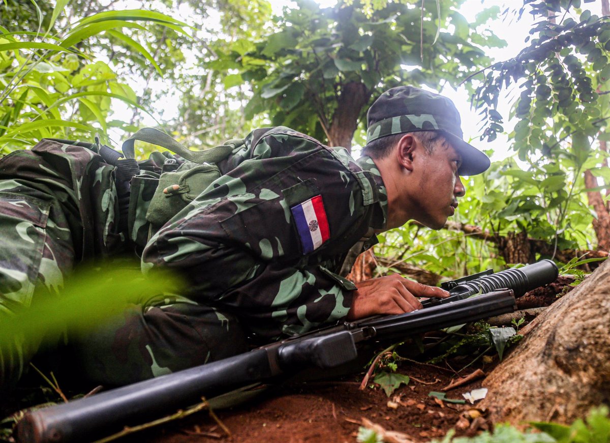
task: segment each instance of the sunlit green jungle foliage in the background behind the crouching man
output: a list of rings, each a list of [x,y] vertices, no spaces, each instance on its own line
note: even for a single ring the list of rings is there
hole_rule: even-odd
[[[60,0],[54,8],[5,0],[0,148],[96,134],[118,146],[151,122],[195,148],[271,124],[357,147],[382,90],[463,85],[484,118],[484,139],[510,128],[507,118],[518,121],[508,129],[517,157],[467,178],[454,217],[487,240],[407,225],[381,236],[376,254],[387,260],[378,272],[406,262],[458,276],[565,249],[578,257],[598,242],[607,248],[592,223],[599,226],[608,208],[600,190],[610,170],[605,151],[594,148],[607,138],[608,18],[592,15],[590,2],[525,0],[483,9],[468,23],[463,3],[429,1],[422,9],[419,1],[341,0],[322,8],[298,0],[274,15],[265,0],[146,0],[138,10],[124,10],[122,0]],[[491,60],[489,49],[504,45],[493,21],[523,14],[537,19],[523,51]],[[511,114],[500,115],[507,90],[520,95]],[[172,101],[176,115],[166,112]],[[119,102],[131,118],[115,118]],[[601,201],[595,210],[591,192]],[[530,240],[550,249],[534,250]],[[515,248],[522,250],[506,252]]]

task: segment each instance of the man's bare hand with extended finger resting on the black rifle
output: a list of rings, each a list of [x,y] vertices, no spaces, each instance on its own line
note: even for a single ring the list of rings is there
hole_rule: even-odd
[[[398,274],[356,283],[348,320],[364,319],[377,314],[403,314],[422,308],[417,297],[447,298],[440,287],[426,286]]]

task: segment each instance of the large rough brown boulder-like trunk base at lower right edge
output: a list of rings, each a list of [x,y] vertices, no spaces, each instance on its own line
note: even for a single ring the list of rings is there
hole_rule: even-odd
[[[523,329],[484,381],[493,422],[570,423],[610,402],[610,262]]]

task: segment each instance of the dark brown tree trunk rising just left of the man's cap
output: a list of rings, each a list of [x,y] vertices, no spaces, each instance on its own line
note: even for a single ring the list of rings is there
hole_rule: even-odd
[[[351,139],[358,126],[358,117],[369,98],[370,92],[363,83],[349,82],[343,85],[337,99],[337,109],[332,114],[331,125],[326,131],[329,146],[343,146],[351,151]]]

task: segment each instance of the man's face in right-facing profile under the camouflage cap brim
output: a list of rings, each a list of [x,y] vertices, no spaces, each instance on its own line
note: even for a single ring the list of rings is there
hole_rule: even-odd
[[[458,175],[461,156],[450,143],[438,140],[431,153],[425,151],[415,157],[415,189],[411,190],[416,205],[415,220],[432,229],[440,229],[455,213],[458,197],[465,189]]]

